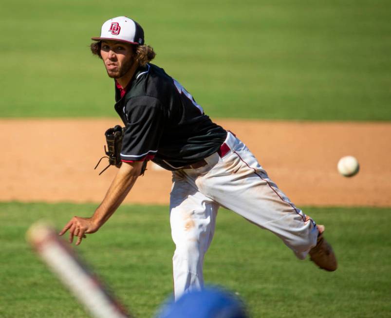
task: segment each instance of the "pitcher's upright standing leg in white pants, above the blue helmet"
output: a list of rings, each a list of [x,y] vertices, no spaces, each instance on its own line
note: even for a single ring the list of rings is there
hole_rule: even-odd
[[[217,210],[218,206],[199,192],[188,176],[173,172],[170,224],[176,246],[172,259],[175,299],[203,287],[204,256],[213,238]]]

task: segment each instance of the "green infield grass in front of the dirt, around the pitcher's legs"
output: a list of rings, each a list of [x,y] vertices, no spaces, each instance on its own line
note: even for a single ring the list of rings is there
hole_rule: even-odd
[[[93,205],[0,203],[0,317],[86,317],[24,240],[45,219],[62,227]],[[339,261],[334,273],[298,261],[278,238],[220,210],[205,280],[238,292],[252,317],[390,317],[391,243],[387,208],[305,211],[326,224]],[[77,250],[140,318],[172,291],[174,250],[166,206],[122,206]]]

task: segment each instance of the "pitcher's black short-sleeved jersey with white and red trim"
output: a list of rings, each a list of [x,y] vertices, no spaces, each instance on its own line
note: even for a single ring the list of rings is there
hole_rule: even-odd
[[[168,170],[193,164],[219,150],[226,131],[175,79],[156,65],[140,67],[115,110],[125,124],[121,160],[152,160]]]

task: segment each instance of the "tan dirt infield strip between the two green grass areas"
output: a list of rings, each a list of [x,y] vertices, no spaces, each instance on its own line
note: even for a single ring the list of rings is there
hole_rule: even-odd
[[[391,206],[391,124],[217,120],[234,131],[269,176],[300,205]],[[116,168],[93,170],[116,119],[0,120],[1,201],[100,202]],[[360,172],[344,178],[340,157]],[[102,163],[100,167],[104,167]],[[149,164],[126,202],[168,204],[170,172]]]

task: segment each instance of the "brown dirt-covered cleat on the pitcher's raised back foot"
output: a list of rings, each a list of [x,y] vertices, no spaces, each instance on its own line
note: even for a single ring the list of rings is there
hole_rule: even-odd
[[[319,225],[318,229],[319,235],[317,237],[317,245],[310,250],[310,260],[320,268],[333,272],[337,269],[333,248],[323,237],[324,226]]]

